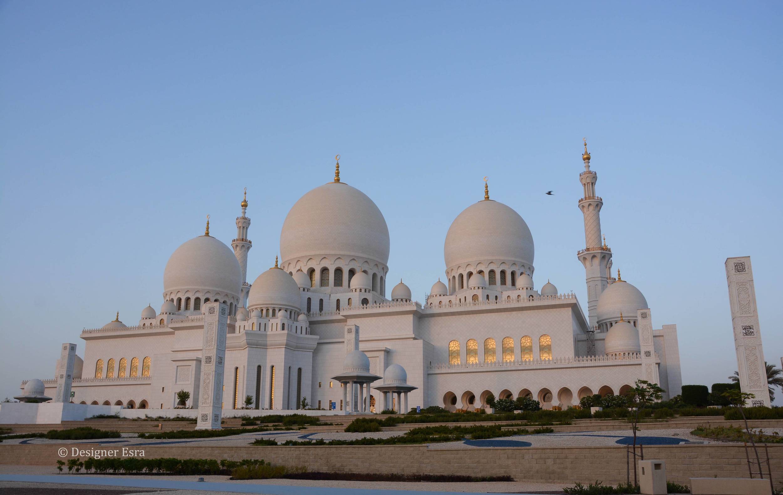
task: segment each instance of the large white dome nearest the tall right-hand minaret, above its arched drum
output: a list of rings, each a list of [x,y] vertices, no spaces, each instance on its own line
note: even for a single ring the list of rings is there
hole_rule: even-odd
[[[446,233],[446,268],[467,263],[533,264],[533,237],[519,214],[497,201],[479,201],[457,215]]]

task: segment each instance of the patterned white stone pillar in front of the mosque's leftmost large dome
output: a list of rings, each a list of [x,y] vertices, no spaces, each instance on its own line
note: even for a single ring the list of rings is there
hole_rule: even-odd
[[[196,429],[218,430],[222,416],[229,306],[220,302],[207,302],[201,307],[204,310],[204,338]]]

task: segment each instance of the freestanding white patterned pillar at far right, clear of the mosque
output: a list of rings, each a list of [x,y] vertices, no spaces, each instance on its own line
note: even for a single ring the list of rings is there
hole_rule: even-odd
[[[740,389],[756,396],[748,401],[749,406],[769,407],[767,367],[761,346],[756,287],[753,284],[750,256],[726,259],[726,281],[729,287]]]

